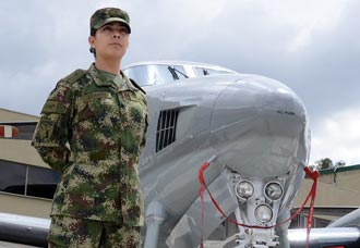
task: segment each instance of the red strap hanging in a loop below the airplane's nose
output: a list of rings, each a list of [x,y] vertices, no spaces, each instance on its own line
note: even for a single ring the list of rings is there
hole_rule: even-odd
[[[212,199],[213,204],[215,206],[215,208],[221,213],[221,215],[228,220],[229,222],[239,225],[239,226],[243,226],[243,227],[248,227],[248,228],[262,228],[262,230],[268,230],[268,228],[274,228],[276,226],[283,225],[284,223],[295,219],[301,211],[302,209],[305,207],[305,204],[308,203],[310,197],[311,197],[311,202],[310,202],[310,210],[309,210],[309,215],[308,215],[308,223],[307,223],[307,248],[309,247],[309,235],[310,235],[310,231],[311,231],[311,226],[312,226],[312,219],[313,219],[313,214],[314,214],[314,203],[315,203],[315,197],[316,197],[316,185],[317,185],[317,178],[320,176],[319,171],[311,171],[309,166],[305,166],[303,170],[307,173],[307,175],[313,179],[313,184],[311,187],[311,190],[309,191],[305,200],[303,201],[303,203],[301,204],[301,207],[287,220],[277,223],[275,225],[272,226],[260,226],[260,225],[247,225],[243,223],[239,223],[233,219],[230,219],[228,215],[225,214],[225,212],[221,210],[220,206],[217,203],[217,201],[215,200],[215,198],[213,197],[212,193],[209,191],[205,178],[204,178],[204,172],[205,170],[209,166],[209,162],[205,162],[203,163],[203,165],[201,165],[200,170],[199,170],[199,182],[200,182],[200,200],[201,200],[201,239],[200,239],[200,248],[204,248],[204,232],[203,232],[203,226],[204,226],[204,189],[206,189],[206,191],[208,193],[208,196]]]

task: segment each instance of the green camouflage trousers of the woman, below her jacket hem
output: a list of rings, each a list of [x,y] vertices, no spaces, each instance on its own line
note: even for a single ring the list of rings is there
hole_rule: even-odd
[[[48,240],[49,247],[55,248],[140,248],[141,245],[140,227],[62,215],[51,218]]]

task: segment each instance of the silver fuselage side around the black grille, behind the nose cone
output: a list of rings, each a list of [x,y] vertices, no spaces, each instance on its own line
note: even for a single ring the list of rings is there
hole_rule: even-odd
[[[192,78],[146,88],[149,129],[140,177],[145,209],[151,201],[161,201],[171,215],[169,222],[176,222],[199,195],[199,168],[215,153],[211,144],[212,111],[218,95],[239,75],[230,78]],[[155,152],[158,116],[169,109],[179,109],[176,141]],[[223,168],[214,166],[209,182]]]

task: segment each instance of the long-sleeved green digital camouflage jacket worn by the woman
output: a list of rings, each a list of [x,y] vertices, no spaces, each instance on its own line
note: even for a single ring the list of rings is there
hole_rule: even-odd
[[[145,145],[145,92],[118,87],[94,64],[61,79],[48,97],[33,146],[61,172],[51,215],[143,224],[137,173]]]

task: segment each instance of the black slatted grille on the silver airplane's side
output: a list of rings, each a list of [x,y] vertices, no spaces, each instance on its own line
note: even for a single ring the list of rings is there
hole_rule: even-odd
[[[164,110],[160,112],[156,132],[156,152],[175,141],[179,110]]]

